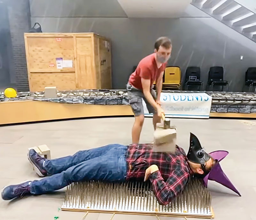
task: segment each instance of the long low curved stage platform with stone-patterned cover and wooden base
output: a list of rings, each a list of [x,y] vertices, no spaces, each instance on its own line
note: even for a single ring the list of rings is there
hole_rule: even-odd
[[[256,118],[255,93],[205,93],[212,96],[210,117]],[[68,118],[133,116],[133,113],[126,90],[78,90],[58,92],[54,99],[45,99],[44,92],[20,92],[15,98],[5,98],[0,93],[0,115],[0,125],[6,125]]]

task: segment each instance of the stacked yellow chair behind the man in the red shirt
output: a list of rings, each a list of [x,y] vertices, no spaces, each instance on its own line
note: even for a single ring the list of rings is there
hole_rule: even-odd
[[[181,71],[178,66],[168,66],[164,70],[163,89],[181,89]]]

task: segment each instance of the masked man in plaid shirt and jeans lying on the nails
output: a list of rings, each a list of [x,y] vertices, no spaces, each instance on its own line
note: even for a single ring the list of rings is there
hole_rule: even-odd
[[[49,193],[78,181],[149,179],[158,202],[166,205],[184,189],[190,177],[203,178],[215,164],[192,133],[187,156],[178,146],[174,154],[153,152],[152,147],[153,144],[110,144],[54,160],[47,160],[30,149],[28,160],[36,173],[40,177],[49,177],[6,186],[2,198],[11,200],[25,194]]]

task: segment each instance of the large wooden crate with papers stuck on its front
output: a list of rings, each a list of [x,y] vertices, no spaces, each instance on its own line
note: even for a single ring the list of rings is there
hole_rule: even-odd
[[[111,89],[111,45],[94,33],[25,33],[29,90]],[[57,68],[56,58],[73,65]]]

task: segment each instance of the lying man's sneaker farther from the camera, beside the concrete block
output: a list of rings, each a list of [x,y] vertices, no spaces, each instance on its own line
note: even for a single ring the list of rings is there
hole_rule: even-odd
[[[34,169],[39,177],[47,176],[47,171],[44,170],[44,168],[43,168],[43,163],[46,160],[44,157],[37,154],[34,149],[30,149],[28,151],[28,160],[34,167]]]

